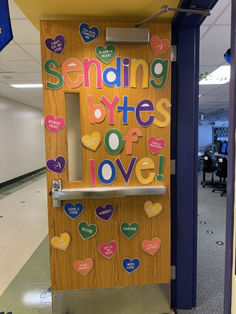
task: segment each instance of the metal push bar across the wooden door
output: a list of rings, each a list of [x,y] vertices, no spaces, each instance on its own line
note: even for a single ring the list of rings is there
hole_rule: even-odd
[[[53,207],[61,207],[61,201],[64,200],[83,200],[83,199],[104,199],[104,198],[124,198],[126,196],[142,195],[164,195],[166,187],[157,186],[130,186],[130,187],[98,187],[81,189],[62,189],[61,180],[52,181]]]

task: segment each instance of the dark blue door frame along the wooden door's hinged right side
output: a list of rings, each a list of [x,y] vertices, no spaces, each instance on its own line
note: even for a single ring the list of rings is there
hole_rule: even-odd
[[[180,7],[212,9],[217,1],[183,0]],[[196,306],[199,28],[204,19],[197,14],[176,14],[172,22],[177,61],[172,64],[171,95],[171,159],[176,160],[176,175],[171,178],[171,263],[176,266],[171,303],[177,309]]]

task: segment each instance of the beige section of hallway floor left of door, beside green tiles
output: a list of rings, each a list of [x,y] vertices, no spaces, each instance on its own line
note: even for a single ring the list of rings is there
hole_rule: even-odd
[[[45,175],[1,190],[0,295],[48,234]]]

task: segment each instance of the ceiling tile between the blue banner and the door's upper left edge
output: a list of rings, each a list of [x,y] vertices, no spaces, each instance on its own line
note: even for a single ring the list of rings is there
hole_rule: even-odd
[[[14,40],[18,44],[39,44],[39,31],[29,20],[12,20]]]

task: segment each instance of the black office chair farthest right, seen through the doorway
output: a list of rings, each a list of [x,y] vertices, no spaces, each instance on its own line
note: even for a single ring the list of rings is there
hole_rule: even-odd
[[[219,181],[214,182],[212,192],[220,191],[220,196],[223,196],[227,192],[227,158],[218,157],[217,158],[218,166],[216,170],[216,175],[220,178]]]

